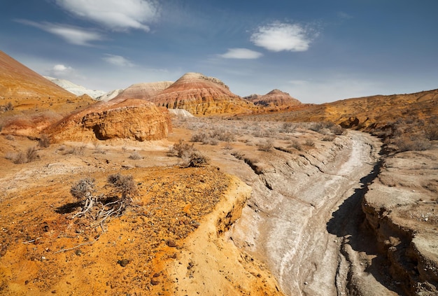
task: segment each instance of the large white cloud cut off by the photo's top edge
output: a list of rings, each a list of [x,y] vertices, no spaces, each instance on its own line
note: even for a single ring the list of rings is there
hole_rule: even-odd
[[[64,10],[97,22],[113,31],[142,29],[160,12],[155,0],[55,0]]]

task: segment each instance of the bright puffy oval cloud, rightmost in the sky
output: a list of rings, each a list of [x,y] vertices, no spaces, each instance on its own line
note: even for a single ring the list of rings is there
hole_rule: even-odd
[[[300,24],[272,22],[258,27],[250,40],[257,46],[275,52],[306,51],[314,36],[315,32]]]

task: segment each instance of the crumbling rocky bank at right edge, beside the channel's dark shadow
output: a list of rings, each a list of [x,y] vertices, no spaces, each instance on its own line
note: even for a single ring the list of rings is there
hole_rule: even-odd
[[[383,163],[362,202],[393,280],[408,295],[437,295],[437,150]]]

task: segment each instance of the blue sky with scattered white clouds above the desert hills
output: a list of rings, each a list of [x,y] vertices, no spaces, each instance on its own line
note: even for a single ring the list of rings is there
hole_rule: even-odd
[[[320,104],[438,88],[437,0],[3,0],[0,50],[94,90],[221,79]]]

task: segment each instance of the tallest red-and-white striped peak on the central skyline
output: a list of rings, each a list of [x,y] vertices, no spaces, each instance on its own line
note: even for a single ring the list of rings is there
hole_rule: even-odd
[[[222,81],[200,73],[186,73],[149,101],[185,109],[193,115],[250,113],[255,109],[252,103],[230,92]]]

